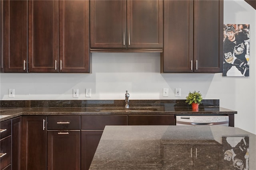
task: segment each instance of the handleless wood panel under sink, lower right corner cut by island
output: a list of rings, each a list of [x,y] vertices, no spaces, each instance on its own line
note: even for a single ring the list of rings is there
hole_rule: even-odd
[[[127,125],[127,115],[84,115],[81,129],[103,130],[106,125]]]

